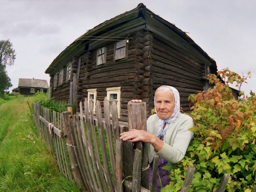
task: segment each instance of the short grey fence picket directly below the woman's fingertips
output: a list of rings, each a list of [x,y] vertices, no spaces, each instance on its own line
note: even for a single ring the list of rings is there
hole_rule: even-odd
[[[123,176],[122,176],[122,153],[124,153],[123,149],[123,141],[120,139],[116,140],[116,190],[117,192],[123,192]]]

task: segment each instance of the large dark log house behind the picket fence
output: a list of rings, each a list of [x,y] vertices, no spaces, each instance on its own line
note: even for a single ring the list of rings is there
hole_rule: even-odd
[[[142,99],[149,116],[161,85],[177,88],[188,111],[189,94],[208,89],[204,77],[217,74],[217,65],[186,32],[139,4],[78,37],[45,73],[53,99],[78,107],[85,98],[103,106],[107,97],[127,121],[127,102]]]

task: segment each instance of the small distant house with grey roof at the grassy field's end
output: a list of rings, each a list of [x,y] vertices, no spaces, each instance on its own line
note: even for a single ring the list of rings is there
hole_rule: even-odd
[[[18,88],[21,95],[33,95],[35,92],[47,93],[49,86],[46,80],[19,79]]]

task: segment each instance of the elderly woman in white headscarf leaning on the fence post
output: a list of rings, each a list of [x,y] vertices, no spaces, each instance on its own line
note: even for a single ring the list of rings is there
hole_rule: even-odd
[[[130,102],[142,102],[132,100]],[[143,141],[150,143],[148,149],[149,183],[152,179],[153,158],[159,156],[158,175],[161,178],[162,187],[169,184],[169,172],[161,169],[167,164],[175,164],[184,158],[193,132],[188,131],[193,127],[190,116],[180,113],[180,94],[174,87],[163,85],[155,93],[156,114],[147,120],[147,132],[130,129],[121,133],[120,139]],[[157,177],[156,191],[160,192],[159,177]]]

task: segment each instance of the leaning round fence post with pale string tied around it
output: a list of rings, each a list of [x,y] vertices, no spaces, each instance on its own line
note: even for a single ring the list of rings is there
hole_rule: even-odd
[[[71,169],[72,169],[74,178],[76,180],[76,183],[80,185],[82,188],[86,188],[83,182],[82,174],[80,172],[77,159],[76,159],[76,154],[74,151],[74,148],[77,146],[74,146],[72,143],[72,134],[74,134],[74,129],[72,128],[74,127],[73,127],[73,121],[71,120],[70,114],[71,113],[68,111],[65,111],[62,113],[63,131],[67,135],[65,137],[65,141],[68,146],[69,160],[70,160]]]

